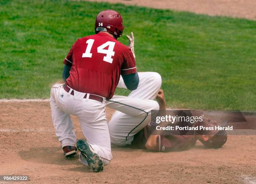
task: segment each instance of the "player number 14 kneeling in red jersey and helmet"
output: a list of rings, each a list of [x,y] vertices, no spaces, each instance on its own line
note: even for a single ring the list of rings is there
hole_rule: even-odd
[[[114,10],[99,13],[96,34],[78,39],[64,59],[62,76],[66,84],[54,84],[51,88],[52,121],[65,156],[74,156],[78,148],[80,160],[93,171],[102,171],[103,165],[112,160],[105,114],[107,102],[114,109],[136,116],[141,123],[151,118],[151,110],[159,109],[153,100],[113,97],[120,75],[127,89],[135,90],[139,83],[131,38],[128,37],[130,47],[117,41],[123,29],[119,13]],[[79,118],[86,141],[76,142],[71,114]],[[131,135],[141,123],[129,127]]]

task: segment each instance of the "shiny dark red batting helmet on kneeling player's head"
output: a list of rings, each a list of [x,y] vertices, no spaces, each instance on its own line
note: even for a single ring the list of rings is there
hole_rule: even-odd
[[[95,21],[95,33],[105,31],[118,38],[123,33],[123,18],[114,10],[104,10],[100,12]]]

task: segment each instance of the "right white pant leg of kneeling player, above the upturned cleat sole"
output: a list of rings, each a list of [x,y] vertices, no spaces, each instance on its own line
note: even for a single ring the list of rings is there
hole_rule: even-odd
[[[102,158],[103,164],[108,165],[112,160],[112,154],[108,122],[105,114],[105,100],[98,102],[85,99],[83,98],[84,95],[80,92],[74,92],[74,96],[69,95],[65,111],[79,118],[87,143]],[[84,164],[82,159],[81,162]]]

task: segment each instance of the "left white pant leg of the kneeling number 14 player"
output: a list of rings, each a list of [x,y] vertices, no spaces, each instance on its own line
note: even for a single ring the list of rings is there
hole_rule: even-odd
[[[65,107],[65,103],[58,100],[60,95],[62,95],[60,94],[61,85],[62,84],[55,84],[54,87],[51,88],[50,105],[51,118],[56,130],[56,136],[63,148],[64,146],[75,146],[77,138],[74,133],[74,126],[70,115],[61,109],[61,107]]]

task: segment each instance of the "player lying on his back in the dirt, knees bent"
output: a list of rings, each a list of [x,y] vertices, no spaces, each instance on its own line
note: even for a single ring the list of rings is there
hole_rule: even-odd
[[[133,35],[132,38],[129,38],[129,40],[134,51]],[[138,76],[140,78],[139,85],[137,89],[133,90],[128,95],[128,98],[136,99],[136,102],[140,102],[141,99],[157,99],[160,110],[165,110],[166,104],[164,92],[160,90],[161,76],[156,72],[138,72]],[[122,77],[120,78],[118,87],[127,89]],[[214,134],[209,132],[207,132],[208,135],[204,135],[203,133],[205,132],[199,132],[201,135],[199,133],[194,133],[195,135],[193,134],[192,136],[177,135],[177,133],[171,133],[172,135],[170,135],[170,133],[168,135],[164,135],[164,133],[156,133],[153,131],[155,126],[150,124],[151,119],[147,114],[150,109],[155,109],[154,104],[151,101],[145,101],[145,104],[141,103],[141,105],[136,105],[135,102],[125,100],[126,97],[117,98],[119,102],[122,103],[120,103],[118,106],[115,105],[115,107],[113,107],[112,104],[112,101],[115,100],[110,99],[107,101],[108,107],[117,110],[108,123],[111,143],[117,146],[133,145],[134,147],[147,148],[151,151],[163,151],[164,149],[177,150],[177,148],[190,148],[195,145],[195,141],[197,139],[199,139],[207,147],[218,148],[221,147],[227,140],[225,131],[218,132],[216,136],[213,136]],[[148,108],[145,106],[148,106]],[[144,113],[143,110],[145,110]],[[204,119],[204,122],[200,125],[214,126],[215,123],[215,121]],[[161,135],[159,136],[159,134]]]

